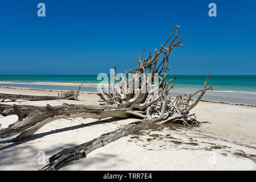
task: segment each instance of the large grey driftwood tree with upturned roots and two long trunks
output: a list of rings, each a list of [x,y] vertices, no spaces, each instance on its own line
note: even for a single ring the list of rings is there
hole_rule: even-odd
[[[40,127],[59,118],[83,117],[102,119],[107,117],[128,118],[131,115],[142,120],[133,122],[115,131],[101,135],[99,138],[80,144],[79,146],[66,148],[50,158],[50,163],[43,169],[53,170],[60,168],[64,163],[74,159],[84,158],[91,151],[102,147],[118,138],[124,137],[134,131],[141,130],[152,123],[177,122],[186,126],[198,125],[195,114],[190,111],[195,107],[207,90],[209,75],[201,90],[193,94],[185,94],[176,98],[168,96],[173,88],[172,81],[176,77],[166,81],[169,56],[173,48],[184,47],[181,38],[177,36],[179,26],[176,26],[172,34],[155,49],[155,55],[149,53],[143,60],[143,53],[138,57],[136,69],[129,69],[124,75],[112,75],[113,81],[108,86],[99,89],[100,106],[92,105],[67,105],[62,106],[25,106],[25,105],[0,105],[0,114],[3,116],[17,114],[19,119],[13,125],[0,130],[0,138],[19,134],[12,142],[17,142],[30,137]],[[160,60],[161,59],[161,60]],[[127,77],[129,77],[127,79]],[[194,96],[199,95],[196,99]]]

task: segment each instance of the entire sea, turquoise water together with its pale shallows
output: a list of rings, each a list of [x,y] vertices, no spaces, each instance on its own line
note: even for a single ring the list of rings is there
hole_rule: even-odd
[[[177,76],[173,81],[172,96],[183,93],[193,93],[204,86],[206,75],[168,75]],[[77,86],[33,85],[33,82],[70,82],[87,83],[83,91],[96,92],[97,75],[0,75],[0,81],[11,81],[11,84],[0,83],[0,86],[19,86],[40,89],[76,90]],[[22,82],[22,84],[15,84]],[[256,75],[210,75],[208,86],[214,91],[205,94],[205,100],[235,102],[256,105]]]

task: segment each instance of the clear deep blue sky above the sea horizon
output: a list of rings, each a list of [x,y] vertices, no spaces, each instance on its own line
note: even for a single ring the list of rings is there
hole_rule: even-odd
[[[169,74],[256,75],[255,0],[1,0],[0,22],[0,75],[124,72],[176,24],[186,48],[174,49]]]

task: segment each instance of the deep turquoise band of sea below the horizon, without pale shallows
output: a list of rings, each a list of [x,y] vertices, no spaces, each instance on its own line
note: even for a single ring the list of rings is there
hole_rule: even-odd
[[[167,80],[177,76],[175,86],[201,88],[206,75],[168,75]],[[0,75],[0,81],[15,82],[71,82],[99,83],[97,75]],[[208,85],[216,90],[232,90],[256,93],[256,75],[211,75]]]

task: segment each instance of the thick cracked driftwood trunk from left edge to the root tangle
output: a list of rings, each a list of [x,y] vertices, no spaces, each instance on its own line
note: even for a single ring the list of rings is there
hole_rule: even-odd
[[[11,135],[21,133],[12,142],[18,142],[30,135],[47,123],[59,119],[60,117],[83,117],[83,118],[127,118],[127,109],[118,106],[94,106],[94,105],[68,105],[61,106],[27,106],[27,105],[3,105],[0,104],[0,114],[3,116],[17,114],[19,119],[6,129],[0,130],[0,138],[7,138]]]

